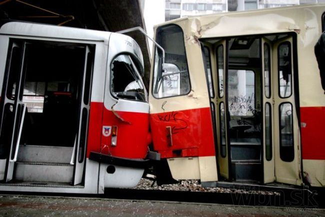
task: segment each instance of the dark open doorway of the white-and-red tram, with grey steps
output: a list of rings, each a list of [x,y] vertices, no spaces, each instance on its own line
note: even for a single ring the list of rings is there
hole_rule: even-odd
[[[2,85],[5,183],[82,183],[93,46],[9,41]]]

